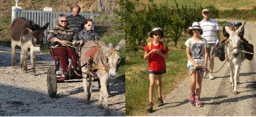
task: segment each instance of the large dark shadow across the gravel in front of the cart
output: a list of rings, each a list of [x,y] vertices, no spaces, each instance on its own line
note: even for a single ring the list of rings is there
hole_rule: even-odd
[[[97,105],[85,104],[80,98],[58,96],[50,98],[48,94],[26,88],[16,88],[0,84],[1,116],[103,116],[104,111]],[[81,90],[81,89],[80,89]],[[74,90],[75,91],[75,90]],[[17,95],[17,92],[21,92]],[[72,108],[70,108],[72,107]],[[67,111],[68,110],[68,111]],[[89,113],[85,110],[95,111]],[[118,111],[118,110],[111,110]],[[73,113],[77,112],[77,113]]]

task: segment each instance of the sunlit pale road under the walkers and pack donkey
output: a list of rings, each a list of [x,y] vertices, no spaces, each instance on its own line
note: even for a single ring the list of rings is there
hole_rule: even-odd
[[[256,52],[254,26],[254,23],[247,22],[244,37],[255,46],[254,52]],[[215,58],[214,71],[219,70],[223,63],[224,61]],[[256,59],[251,61],[246,59],[242,63],[237,95],[233,94],[229,84],[229,74],[225,63],[220,72],[213,74],[217,77],[215,80],[203,79],[201,101],[204,107],[199,108],[188,103],[190,93],[188,77],[164,98],[165,105],[155,107],[154,113],[149,116],[256,116]]]

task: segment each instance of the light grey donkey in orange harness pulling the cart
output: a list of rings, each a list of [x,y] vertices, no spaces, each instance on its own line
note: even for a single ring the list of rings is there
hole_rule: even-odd
[[[87,64],[82,67],[84,100],[88,104],[91,98],[92,77],[99,78],[101,88],[98,108],[103,109],[102,99],[104,99],[105,115],[110,115],[107,84],[110,78],[117,77],[118,64],[121,61],[119,49],[124,45],[124,39],[118,45],[110,43],[108,46],[102,41],[88,41],[81,50],[81,65]],[[89,83],[87,78],[89,78]]]

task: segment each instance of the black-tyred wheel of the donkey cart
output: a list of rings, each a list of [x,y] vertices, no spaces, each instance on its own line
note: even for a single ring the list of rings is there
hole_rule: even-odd
[[[47,73],[47,89],[50,97],[56,97],[57,93],[57,78],[53,67],[48,69]]]

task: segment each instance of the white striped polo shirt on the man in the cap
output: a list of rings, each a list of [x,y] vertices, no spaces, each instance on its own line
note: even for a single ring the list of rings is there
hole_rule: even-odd
[[[203,30],[201,36],[207,40],[207,43],[216,43],[217,37],[215,32],[216,30],[220,30],[218,22],[215,19],[210,18],[208,21],[203,19],[199,24]]]

